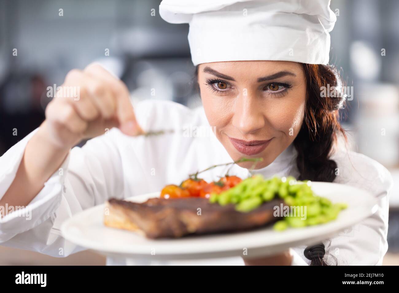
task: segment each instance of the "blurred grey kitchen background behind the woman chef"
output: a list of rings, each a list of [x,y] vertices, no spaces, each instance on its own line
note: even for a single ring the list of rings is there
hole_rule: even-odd
[[[164,22],[159,4],[0,0],[0,155],[43,121],[51,99],[47,87],[61,85],[69,70],[93,61],[126,83],[133,102],[156,98],[199,106],[192,87],[188,25]],[[385,165],[395,180],[384,265],[398,265],[399,1],[332,0],[330,7],[338,18],[330,63],[342,68],[353,87],[342,121],[353,149]],[[93,252],[51,258],[0,247],[0,265],[12,264],[103,265],[105,258]]]

